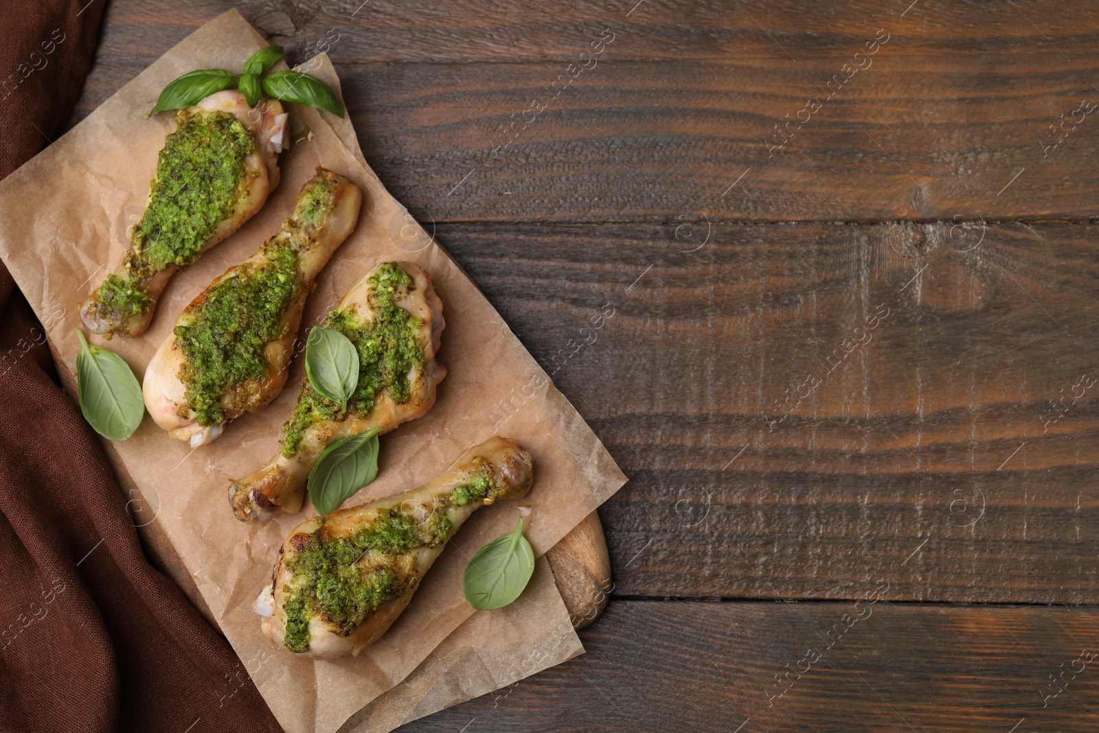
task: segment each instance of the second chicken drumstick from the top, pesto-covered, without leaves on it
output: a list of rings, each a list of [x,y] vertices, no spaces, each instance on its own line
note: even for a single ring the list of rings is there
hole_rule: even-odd
[[[357,186],[318,167],[278,234],[184,309],[145,371],[156,424],[193,447],[278,396],[313,279],[355,230],[362,201]]]

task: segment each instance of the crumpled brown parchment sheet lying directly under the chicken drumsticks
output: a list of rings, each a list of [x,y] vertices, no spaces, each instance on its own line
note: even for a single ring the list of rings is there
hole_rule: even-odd
[[[234,11],[218,18],[0,181],[0,221],[4,222],[0,257],[40,318],[51,323],[51,348],[73,395],[78,303],[106,276],[104,263],[111,269],[119,266],[127,243],[126,227],[141,215],[157,152],[174,124],[170,115],[145,119],[143,113],[179,74],[192,68],[240,68],[263,45],[262,36]],[[418,263],[431,273],[444,303],[447,327],[439,358],[449,370],[434,409],[381,438],[377,480],[348,503],[426,481],[466,447],[497,434],[503,414],[496,406],[509,399],[519,412],[507,421],[503,433],[534,456],[535,485],[524,503],[532,507],[526,536],[541,555],[625,478],[476,286],[322,121],[321,115],[328,113],[290,108],[295,144],[280,158],[282,182],[265,208],[173,279],[143,336],[115,337],[109,344],[96,337],[95,343],[120,354],[141,379],[180,310],[278,230],[317,165],[336,170],[363,189],[363,212],[355,234],[318,278],[303,330],[319,322],[375,263]],[[191,451],[146,417],[129,441],[106,447],[123,490],[137,492],[155,514],[154,534],[160,534],[178,555],[236,653],[245,660],[264,659],[249,667],[249,673],[279,722],[289,731],[326,732],[407,678],[469,619],[473,609],[460,589],[467,557],[510,531],[518,509],[513,502],[501,502],[475,514],[428,574],[409,609],[360,657],[311,660],[276,648],[259,633],[251,604],[266,582],[279,544],[313,510],[307,502],[300,514],[280,515],[259,525],[242,524],[229,510],[227,481],[259,466],[277,449],[279,429],[296,401],[302,370],[301,360],[296,360],[278,399],[265,411],[236,420],[210,445]],[[518,404],[515,396],[520,396]],[[526,602],[512,614],[525,609],[524,613],[539,617],[547,610],[543,606]],[[559,619],[559,611],[548,609],[548,617]],[[486,624],[484,633],[491,637],[493,619],[503,620],[506,614],[485,615],[487,620],[478,623]]]

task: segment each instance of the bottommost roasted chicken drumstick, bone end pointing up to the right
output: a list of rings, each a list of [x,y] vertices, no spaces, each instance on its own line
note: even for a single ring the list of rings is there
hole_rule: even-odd
[[[298,525],[253,604],[264,634],[308,656],[357,656],[401,614],[462,523],[525,497],[532,471],[531,455],[497,436],[419,489]]]

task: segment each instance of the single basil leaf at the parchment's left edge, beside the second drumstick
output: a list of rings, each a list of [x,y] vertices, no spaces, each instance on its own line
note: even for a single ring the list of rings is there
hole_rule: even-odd
[[[145,417],[141,385],[122,357],[80,336],[76,355],[77,401],[84,419],[109,441],[124,441],[134,434]]]

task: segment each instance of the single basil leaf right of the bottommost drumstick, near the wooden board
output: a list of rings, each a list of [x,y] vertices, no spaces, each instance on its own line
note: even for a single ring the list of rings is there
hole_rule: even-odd
[[[532,575],[534,551],[520,518],[514,532],[488,543],[469,560],[462,591],[475,609],[499,609],[519,598]]]

